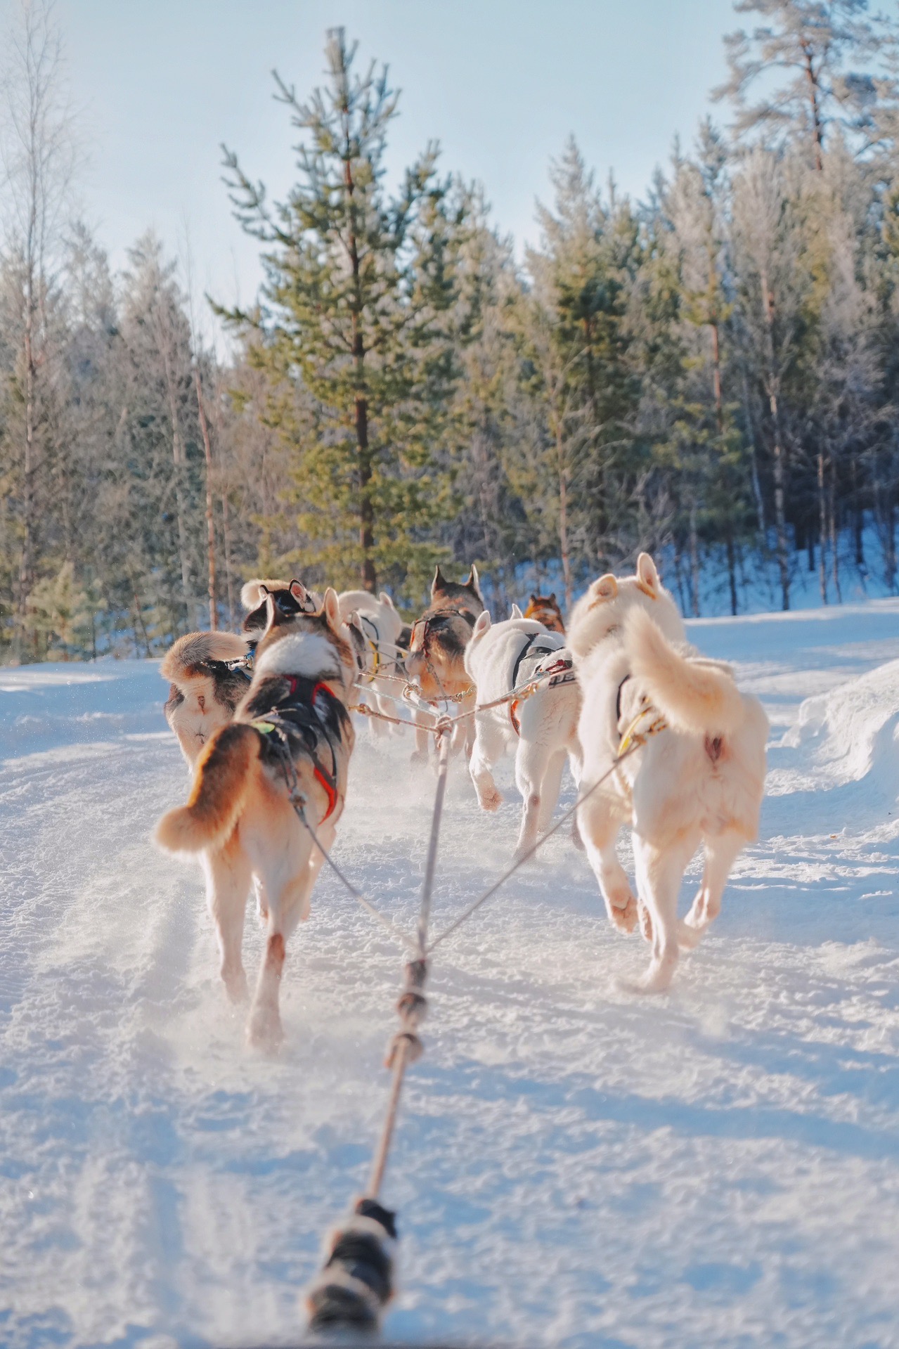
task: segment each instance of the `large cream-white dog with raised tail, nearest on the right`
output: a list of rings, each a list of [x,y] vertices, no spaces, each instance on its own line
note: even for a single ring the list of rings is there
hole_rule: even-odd
[[[648,553],[636,576],[601,576],[575,604],[568,625],[583,700],[582,792],[609,770],[628,733],[661,714],[651,737],[578,812],[580,835],[609,917],[633,931],[637,901],[616,855],[622,824],[633,830],[644,935],[652,959],[636,990],[668,987],[679,946],[694,947],[721,911],[740,850],[759,831],[768,719],[759,699],[740,693],[732,670],[688,646],[680,614]],[[697,847],[702,884],[683,923],[678,894]]]

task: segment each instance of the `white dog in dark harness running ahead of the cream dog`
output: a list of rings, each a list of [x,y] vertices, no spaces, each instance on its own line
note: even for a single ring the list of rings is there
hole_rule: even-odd
[[[495,811],[502,801],[493,780],[494,765],[506,751],[516,755],[516,785],[524,803],[516,846],[516,857],[521,857],[549,826],[566,757],[575,782],[580,780],[580,695],[566,639],[536,619],[522,618],[517,604],[503,623],[491,625],[485,610],[475,622],[464,660],[478,703],[491,703],[539,674],[552,672],[540,689],[521,703],[501,703],[475,712],[475,743],[468,768],[483,811]]]

